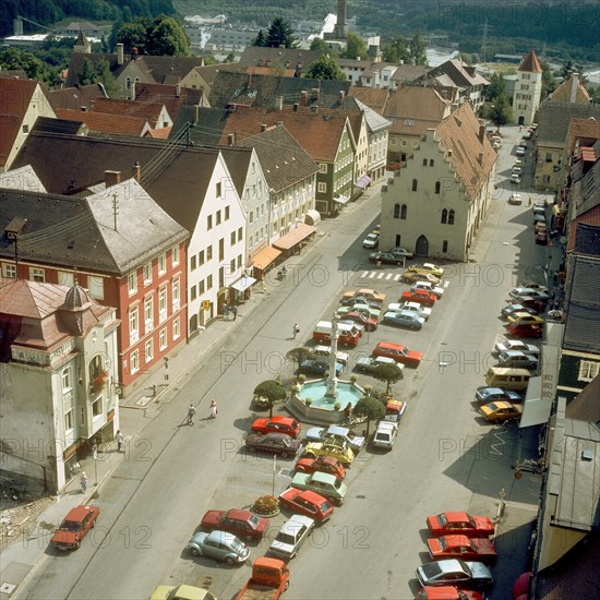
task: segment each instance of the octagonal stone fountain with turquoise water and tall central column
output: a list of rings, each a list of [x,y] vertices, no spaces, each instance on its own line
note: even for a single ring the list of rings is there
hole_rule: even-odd
[[[364,395],[362,387],[349,381],[340,381],[336,375],[337,362],[337,315],[332,319],[332,351],[329,352],[329,373],[326,379],[308,381],[303,386],[292,389],[286,408],[298,419],[309,423],[332,424],[346,420],[344,409],[352,408]],[[310,398],[312,401],[307,403]],[[336,410],[336,404],[338,409]]]

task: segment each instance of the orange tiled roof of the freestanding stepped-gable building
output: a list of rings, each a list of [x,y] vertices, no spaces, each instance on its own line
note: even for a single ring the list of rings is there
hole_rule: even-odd
[[[488,180],[497,158],[490,140],[481,135],[481,123],[469,103],[463,103],[436,129],[440,145],[472,200]]]

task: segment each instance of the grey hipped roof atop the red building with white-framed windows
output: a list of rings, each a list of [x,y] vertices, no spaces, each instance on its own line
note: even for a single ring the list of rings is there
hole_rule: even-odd
[[[87,199],[3,189],[2,202],[2,230],[14,217],[27,219],[19,254],[38,263],[124,275],[188,237],[134,179]],[[13,240],[1,239],[0,255],[14,256]]]

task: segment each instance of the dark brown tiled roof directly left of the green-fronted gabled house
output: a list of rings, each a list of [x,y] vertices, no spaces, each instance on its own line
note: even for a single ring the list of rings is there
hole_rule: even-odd
[[[285,125],[251,135],[240,141],[238,145],[254,148],[268,187],[276,193],[311,177],[319,170],[316,163]]]

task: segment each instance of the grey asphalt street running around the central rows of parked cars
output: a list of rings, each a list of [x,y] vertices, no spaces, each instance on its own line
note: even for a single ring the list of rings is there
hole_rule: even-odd
[[[507,132],[518,139],[516,128]],[[381,325],[350,352],[351,367],[385,339],[422,351],[424,360],[416,370],[406,369],[395,386],[409,406],[394,449],[359,455],[344,505],[291,562],[290,600],[412,598],[415,569],[428,560],[425,517],[461,509],[493,517],[502,490],[507,506],[490,598],[509,598],[512,581],[526,566],[540,481],[530,473],[517,481],[511,467],[517,441],[526,451],[531,441],[515,428],[483,422],[472,404],[491,364],[490,350],[504,331],[499,314],[508,290],[517,280],[536,278],[540,271],[532,265],[545,259],[545,249],[533,244],[527,202],[506,204],[512,147],[505,142],[501,151],[497,194],[470,262],[445,265],[444,298],[423,329]],[[104,484],[100,520],[82,548],[69,555],[48,550],[16,598],[148,598],[157,585],[179,583],[235,597],[249,567],[194,559],[184,552],[185,543],[206,509],[249,506],[289,483],[293,461],[274,464],[242,449],[256,416],[254,386],[291,376],[285,353],[310,339],[341,291],[373,287],[392,302],[407,289],[397,280],[400,267],[374,268],[361,248],[379,211],[377,197],[362,199],[336,221],[320,224],[317,241],[287,262],[286,281],[271,287],[261,305],[182,379],[176,394],[144,412],[143,436]],[[295,322],[301,328],[296,339]],[[359,383],[374,381],[361,375]],[[209,419],[212,398],[219,407],[216,420]],[[197,419],[183,425],[191,401],[199,404]],[[273,519],[268,539],[287,516]],[[265,542],[252,547],[252,556],[265,550]]]

